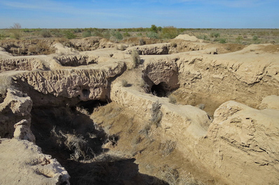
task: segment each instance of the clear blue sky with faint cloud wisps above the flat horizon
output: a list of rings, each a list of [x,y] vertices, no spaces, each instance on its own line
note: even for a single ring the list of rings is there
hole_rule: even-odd
[[[0,29],[279,28],[279,0],[0,0]]]

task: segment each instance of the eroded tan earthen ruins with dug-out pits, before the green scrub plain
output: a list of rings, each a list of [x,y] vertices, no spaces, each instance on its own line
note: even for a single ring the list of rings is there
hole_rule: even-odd
[[[0,184],[278,184],[279,45],[71,42],[0,48]]]

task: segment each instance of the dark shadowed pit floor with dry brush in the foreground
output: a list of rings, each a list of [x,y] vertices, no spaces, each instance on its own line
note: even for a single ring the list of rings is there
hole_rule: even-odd
[[[50,154],[69,172],[71,184],[168,184],[139,172],[135,158],[107,154],[107,142],[118,135],[98,128],[90,113],[106,103],[80,102],[76,106],[32,109],[32,132],[43,154]]]

